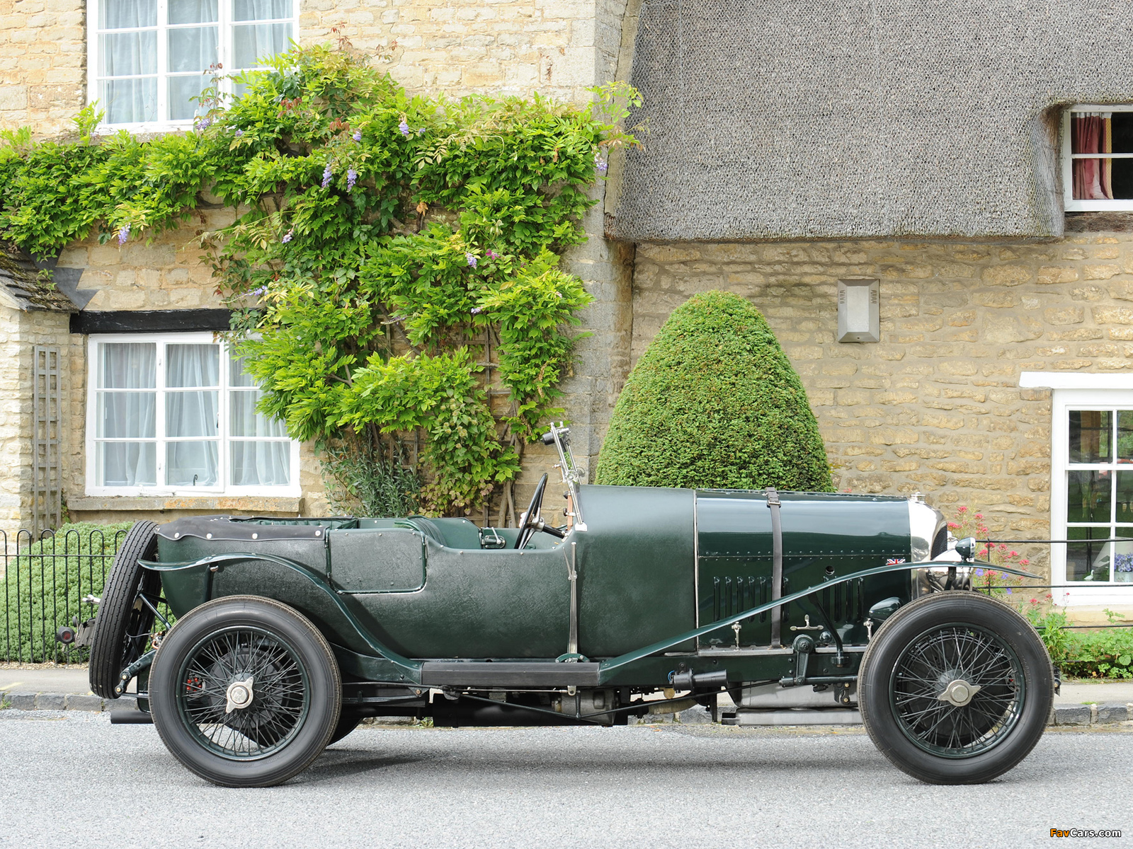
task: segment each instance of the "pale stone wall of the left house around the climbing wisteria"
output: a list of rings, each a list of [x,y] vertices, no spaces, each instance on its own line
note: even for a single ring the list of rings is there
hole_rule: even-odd
[[[629,5],[636,8],[639,0]],[[625,11],[625,0],[303,0],[299,31],[301,42],[318,43],[333,41],[337,33],[332,28],[339,27],[356,48],[373,54],[393,45],[383,67],[411,93],[529,96],[537,91],[582,103],[590,98],[588,86],[617,75]],[[0,0],[0,127],[31,125],[37,135],[67,129],[86,97],[85,5],[77,0]],[[574,424],[574,446],[582,466],[591,465],[597,454],[629,367],[630,251],[603,239],[603,186],[596,187],[599,203],[585,222],[590,241],[565,257],[565,267],[579,274],[595,295],[582,316],[582,329],[590,335],[579,343],[578,365],[563,386],[563,405]],[[208,268],[199,261],[196,238],[230,220],[224,209],[202,208],[152,245],[100,245],[91,237],[68,247],[60,266],[85,268],[80,289],[96,290],[87,309],[219,307]],[[296,505],[264,499],[244,499],[233,506],[231,499],[86,497],[83,337],[73,337],[70,360],[73,415],[66,491],[73,517],[168,520],[229,509],[327,512],[318,464],[309,446],[304,446],[301,461],[304,497]],[[555,461],[553,452],[542,445],[529,446],[526,456],[516,494],[522,504],[534,480]]]

